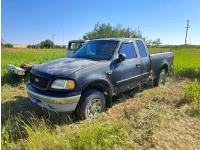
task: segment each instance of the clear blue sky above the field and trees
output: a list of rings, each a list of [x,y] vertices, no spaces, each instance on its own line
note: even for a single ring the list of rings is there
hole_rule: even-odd
[[[200,0],[1,0],[1,37],[13,44],[67,44],[96,23],[139,28],[163,44],[200,44]]]

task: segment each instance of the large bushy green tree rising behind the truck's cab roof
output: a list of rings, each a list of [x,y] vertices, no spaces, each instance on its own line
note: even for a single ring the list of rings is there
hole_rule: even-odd
[[[112,26],[109,23],[97,23],[91,32],[88,32],[83,36],[86,40],[112,37],[137,38],[142,37],[142,34],[140,30],[132,30],[129,27],[124,28],[121,25]]]

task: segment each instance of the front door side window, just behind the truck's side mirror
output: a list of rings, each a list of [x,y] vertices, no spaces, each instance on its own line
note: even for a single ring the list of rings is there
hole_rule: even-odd
[[[127,59],[137,58],[136,50],[133,43],[123,43],[119,53],[126,54]]]

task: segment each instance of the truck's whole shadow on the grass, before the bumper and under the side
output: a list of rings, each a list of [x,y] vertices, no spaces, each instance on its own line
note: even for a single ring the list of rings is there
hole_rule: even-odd
[[[136,93],[142,92],[152,86],[144,86],[142,88],[135,88],[133,90],[119,94],[113,97],[113,105],[126,101],[129,98],[133,98]],[[1,123],[2,126],[6,124],[6,121],[10,118],[23,119],[24,122],[29,122],[30,119],[44,120],[46,124],[53,126],[56,125],[68,125],[79,121],[77,116],[68,113],[58,113],[43,109],[38,105],[32,103],[28,97],[16,96],[14,100],[9,100],[1,103]]]

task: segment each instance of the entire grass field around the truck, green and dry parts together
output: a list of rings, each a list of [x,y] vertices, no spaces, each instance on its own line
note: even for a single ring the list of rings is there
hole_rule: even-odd
[[[77,122],[73,116],[31,104],[23,80],[6,70],[7,64],[65,57],[64,49],[3,49],[2,148],[200,149],[200,48],[175,47],[173,51],[174,72],[166,86],[121,94],[105,113]]]

